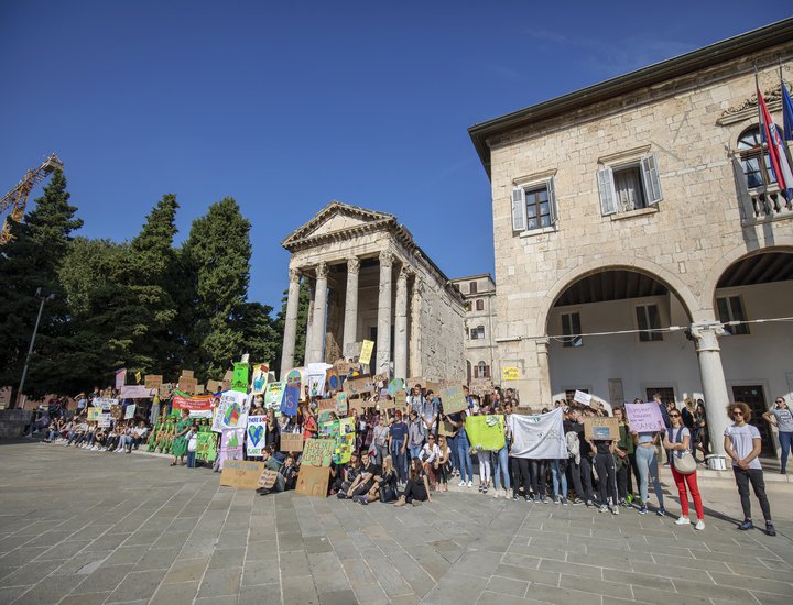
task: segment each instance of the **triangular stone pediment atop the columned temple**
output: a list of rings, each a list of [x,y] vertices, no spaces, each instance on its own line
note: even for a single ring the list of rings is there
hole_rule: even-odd
[[[395,223],[397,217],[387,212],[367,210],[340,201],[332,201],[314,217],[293,231],[283,242],[286,250],[297,244],[321,243],[330,238],[355,235],[362,231],[380,229],[384,224]]]

